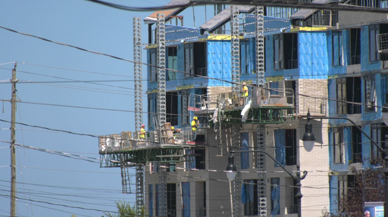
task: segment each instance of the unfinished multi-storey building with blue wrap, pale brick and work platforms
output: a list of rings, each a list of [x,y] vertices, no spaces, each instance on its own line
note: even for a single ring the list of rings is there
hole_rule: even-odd
[[[316,1],[377,7],[375,0]],[[384,2],[378,7],[385,7]],[[339,99],[333,80],[343,77],[348,86],[356,85],[355,76],[359,83],[372,80],[360,77],[369,70],[362,57],[368,52],[380,55],[382,43],[376,34],[377,40],[387,40],[380,35],[388,32],[383,24],[387,16],[243,5],[214,8],[216,15],[199,28],[181,25],[184,7],[133,18],[135,61],[142,62],[142,52],[147,53],[147,110],[142,109],[142,67],[136,63],[136,132],[101,136],[101,167],[121,168],[124,193],[130,187],[128,169],[136,167],[136,203],[145,206],[149,216],[296,217],[295,181],[280,166],[296,174],[300,165],[308,171],[301,182],[302,216],[321,216],[325,207],[337,212],[338,186],[330,188],[337,175],[330,171],[335,154],[329,148],[334,132],[330,126],[335,123],[310,121],[316,147],[307,152],[302,142],[307,111],[315,117],[337,115],[342,107],[327,100],[329,95]],[[147,31],[141,30],[142,21],[148,24]],[[147,43],[141,42],[141,34],[148,34]],[[372,42],[374,51],[368,48]],[[375,61],[381,67],[373,68],[373,73],[381,74],[387,71],[386,61],[378,57]],[[388,86],[387,75],[383,77],[381,94]],[[342,89],[349,89],[349,97],[340,100],[350,101],[353,89],[348,86]],[[371,88],[361,87],[371,95]],[[359,100],[364,93],[360,91]],[[333,106],[337,109],[330,109]],[[355,107],[347,107],[351,108]],[[143,139],[139,132],[146,120]],[[199,126],[195,136],[193,120]],[[225,172],[229,153],[252,150],[266,151],[281,165],[262,153],[235,153],[238,172],[229,182]]]

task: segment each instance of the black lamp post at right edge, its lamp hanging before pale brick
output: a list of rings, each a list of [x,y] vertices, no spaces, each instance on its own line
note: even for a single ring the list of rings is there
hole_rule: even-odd
[[[388,93],[386,94],[386,97],[388,97]],[[388,100],[387,100],[388,102]],[[388,125],[388,103],[384,104],[384,108],[382,109],[383,113],[383,120],[386,125]],[[311,117],[310,112],[307,112],[307,124],[309,124],[309,128],[307,131],[307,124],[306,124],[306,133],[303,135],[303,145],[305,145],[305,142],[309,142],[311,140],[315,140],[314,134],[312,133],[312,124],[310,124],[310,120],[313,119],[344,119],[352,123],[362,134],[364,134],[365,137],[367,137],[371,142],[376,146],[377,150],[380,151],[381,153],[384,153],[384,160],[385,160],[385,168],[384,168],[384,173],[385,173],[385,205],[384,205],[384,216],[388,217],[388,135],[385,136],[385,149],[380,147],[377,142],[372,140],[372,138],[367,135],[359,126],[356,125],[356,123],[349,118],[344,118],[344,117]],[[305,140],[305,135],[308,135]],[[305,146],[306,148],[306,146]],[[312,150],[312,148],[311,148]]]

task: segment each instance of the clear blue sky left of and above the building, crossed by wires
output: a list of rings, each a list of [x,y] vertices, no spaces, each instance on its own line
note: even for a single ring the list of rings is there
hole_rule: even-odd
[[[169,2],[169,0],[109,1],[137,7],[158,6]],[[205,22],[204,7],[196,7],[194,10],[195,24],[198,27]],[[151,13],[123,11],[84,0],[2,0],[0,1],[0,26],[133,60],[132,17],[141,16],[143,19]],[[207,13],[209,19],[213,13],[212,5],[207,6]],[[193,27],[193,9],[190,7],[181,15],[184,16],[185,26]],[[143,24],[142,29],[143,43],[147,43],[147,26]],[[134,110],[132,81],[99,82],[99,84],[111,86],[84,82],[21,83],[26,80],[66,81],[61,78],[80,81],[133,80],[133,64],[130,62],[0,29],[0,64],[6,62],[19,62],[16,77],[20,82],[17,83],[16,89],[17,96],[23,102]],[[145,51],[143,62],[146,62]],[[13,67],[14,63],[0,65],[0,82],[12,78]],[[146,79],[146,67],[143,67],[143,77]],[[143,87],[146,90],[146,82]],[[0,99],[10,98],[10,83],[0,83]],[[145,97],[144,108],[146,108],[146,101]],[[2,107],[1,104],[0,106]],[[146,118],[147,116],[144,115],[145,124]],[[4,102],[4,112],[0,112],[0,119],[11,120],[9,102]],[[16,122],[92,135],[134,131],[133,121],[133,112],[26,103],[18,103],[16,113]],[[0,140],[10,141],[9,127],[9,123],[0,122]],[[16,129],[16,139],[19,144],[99,158],[97,138],[48,132],[45,129],[20,124],[16,124]],[[51,205],[45,202],[107,211],[116,211],[114,202],[119,199],[135,202],[134,194],[121,194],[119,168],[102,169],[98,163],[21,148],[17,148],[16,164],[17,182],[19,182],[17,197],[20,198],[17,202],[17,216],[70,217],[76,214],[78,217],[82,215],[101,217],[102,212]],[[9,165],[9,143],[0,142],[0,216],[9,216],[10,211]],[[132,187],[134,190],[135,186]],[[79,188],[90,189],[80,190]],[[40,202],[30,202],[25,199]]]

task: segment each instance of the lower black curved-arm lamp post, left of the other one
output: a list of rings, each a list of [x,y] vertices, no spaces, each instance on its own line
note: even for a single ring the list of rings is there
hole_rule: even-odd
[[[267,152],[265,151],[261,151],[261,150],[248,150],[248,151],[231,151],[230,152],[230,156],[228,157],[228,165],[226,166],[226,176],[227,178],[229,179],[229,181],[234,181],[234,179],[236,178],[236,172],[237,172],[237,168],[236,166],[234,165],[234,157],[232,156],[233,153],[241,153],[241,152],[261,152],[261,153],[264,153],[266,155],[268,155],[269,157],[271,157],[284,171],[286,171],[293,180],[296,181],[296,194],[295,194],[295,197],[297,199],[297,206],[298,206],[298,217],[302,217],[302,206],[301,206],[301,199],[303,197],[302,193],[300,192],[300,187],[302,186],[300,184],[300,181],[305,179],[306,176],[307,176],[307,171],[303,171],[303,176],[301,177],[300,176],[300,169],[299,169],[299,165],[296,165],[296,176],[293,175],[291,172],[287,171],[286,168],[284,168],[281,163],[279,163],[273,156],[271,156],[270,154],[268,154]]]

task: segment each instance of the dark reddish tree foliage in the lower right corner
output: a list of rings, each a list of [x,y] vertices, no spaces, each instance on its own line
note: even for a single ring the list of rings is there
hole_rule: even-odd
[[[355,181],[344,195],[337,196],[338,213],[330,213],[325,207],[322,217],[364,217],[364,202],[385,201],[384,159],[372,155],[363,159],[362,165],[366,169],[351,168]]]

